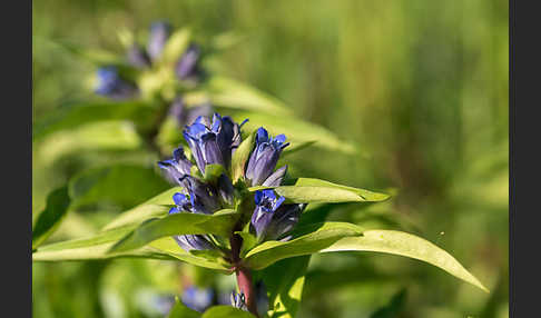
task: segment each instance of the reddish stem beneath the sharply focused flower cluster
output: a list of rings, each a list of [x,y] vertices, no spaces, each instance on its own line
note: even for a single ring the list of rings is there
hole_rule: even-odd
[[[233,235],[229,238],[232,245],[232,257],[233,264],[235,266],[235,275],[237,277],[237,286],[240,294],[244,294],[246,307],[248,311],[259,317],[257,315],[257,304],[256,304],[256,292],[254,288],[254,282],[252,281],[252,274],[249,268],[246,268],[240,262],[240,245],[243,239],[238,235]]]

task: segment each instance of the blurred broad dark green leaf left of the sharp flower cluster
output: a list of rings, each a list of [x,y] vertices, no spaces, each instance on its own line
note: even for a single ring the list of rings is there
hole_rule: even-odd
[[[73,209],[96,202],[109,202],[126,209],[169,188],[153,169],[135,165],[94,168],[69,182]]]

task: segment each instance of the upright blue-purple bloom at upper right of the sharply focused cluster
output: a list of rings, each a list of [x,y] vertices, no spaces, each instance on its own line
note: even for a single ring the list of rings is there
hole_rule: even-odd
[[[245,177],[248,179],[249,185],[260,186],[265,185],[267,178],[276,168],[279,155],[282,150],[289,145],[285,142],[286,137],[284,135],[278,135],[275,138],[268,136],[267,130],[260,127],[257,129],[256,135],[256,146],[252,152],[248,161],[248,167],[246,168]],[[276,171],[277,175],[273,176],[265,186],[268,183],[276,183],[276,180],[282,180],[285,175],[284,170]]]

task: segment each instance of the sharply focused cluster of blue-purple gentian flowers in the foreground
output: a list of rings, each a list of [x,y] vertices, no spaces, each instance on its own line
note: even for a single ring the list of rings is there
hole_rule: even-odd
[[[174,195],[175,206],[169,213],[210,215],[220,209],[235,208],[247,196],[253,196],[253,199],[248,198],[253,200],[253,210],[246,218],[249,220],[249,232],[259,242],[287,240],[305,205],[286,203],[285,198],[277,197],[272,189],[257,190],[255,193],[246,189],[281,186],[287,166],[276,169],[276,165],[282,150],[288,146],[286,137],[278,135],[273,138],[264,128],[259,128],[245,165],[243,182],[233,185],[232,158],[242,142],[243,125],[236,123],[230,117],[215,113],[212,121],[201,116],[185,127],[183,135],[191,158],[188,159],[185,149],[179,147],[173,152],[173,158],[158,162],[166,177],[183,187],[183,192]],[[209,165],[223,168],[218,170],[223,172],[213,181],[201,177]],[[239,187],[245,187],[244,191]],[[175,237],[175,240],[186,251],[215,249],[219,245],[212,235],[183,235]]]

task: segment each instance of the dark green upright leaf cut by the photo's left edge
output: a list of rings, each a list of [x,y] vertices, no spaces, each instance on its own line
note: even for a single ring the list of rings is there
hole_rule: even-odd
[[[40,246],[58,228],[70,205],[68,187],[53,190],[47,197],[47,206],[39,213],[32,229],[32,249]]]

